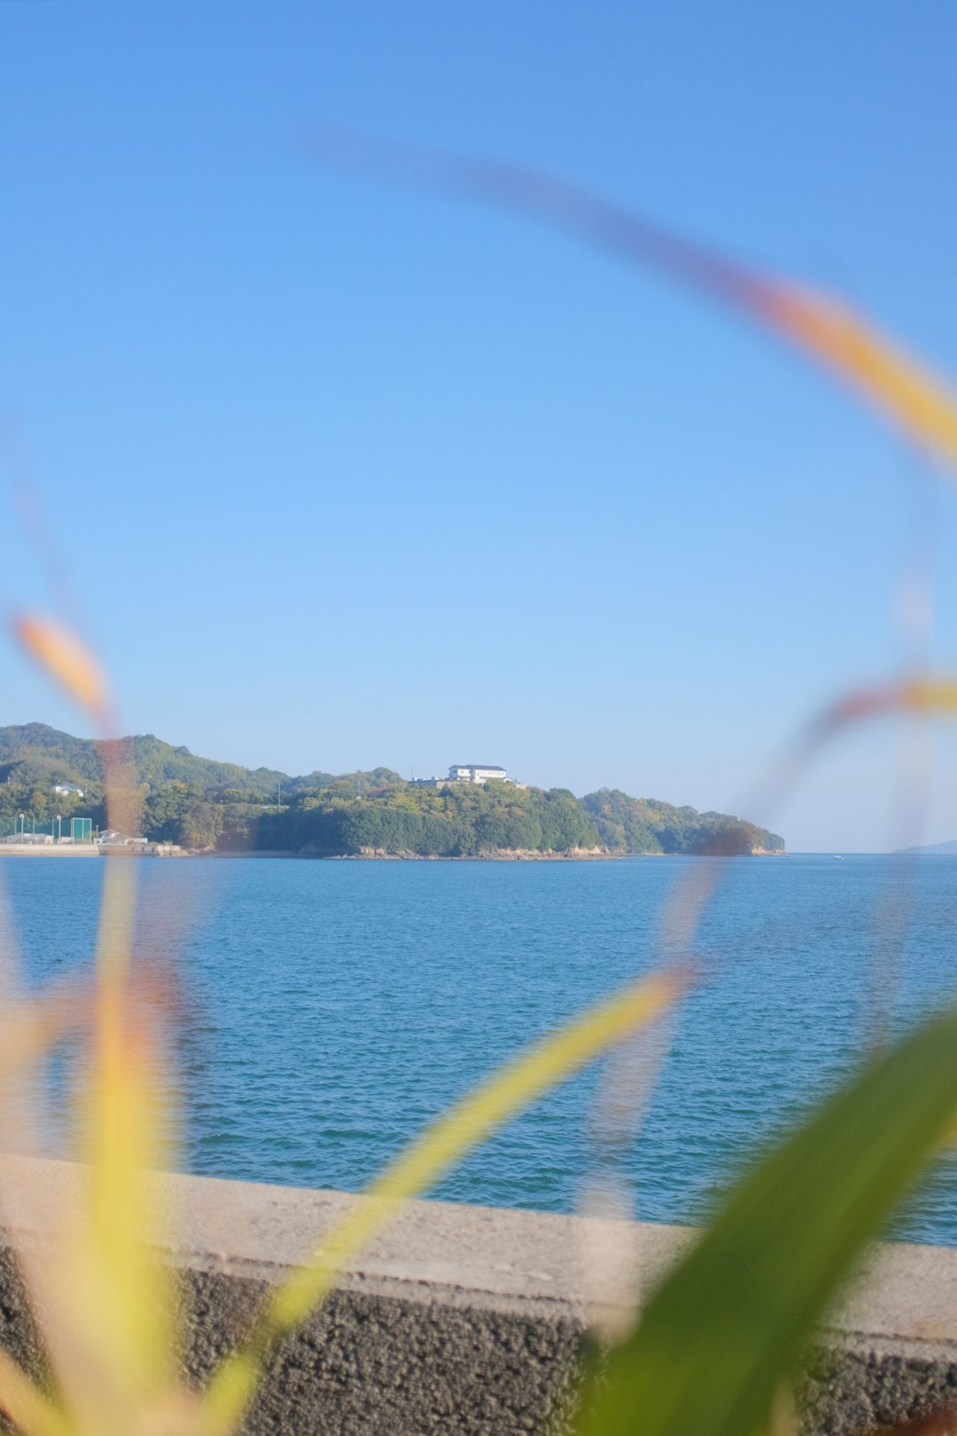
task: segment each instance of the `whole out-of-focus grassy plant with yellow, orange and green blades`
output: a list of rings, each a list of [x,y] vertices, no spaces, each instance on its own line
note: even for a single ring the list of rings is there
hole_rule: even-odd
[[[409,161],[395,151],[372,158],[392,168]],[[501,167],[445,161],[436,171],[436,165],[433,157],[429,182],[544,214],[717,293],[836,369],[957,467],[957,406],[946,386],[838,306],[746,274],[554,181]],[[20,619],[17,635],[112,738],[106,682],[77,638],[37,616]],[[956,708],[957,684],[948,678],[878,685],[811,725],[799,758],[808,761],[835,731],[878,712]],[[129,791],[122,750],[108,745],[106,755],[110,823],[122,826]],[[680,952],[692,946],[717,869],[709,873],[682,889],[673,922]],[[50,1390],[40,1391],[0,1354],[0,1407],[27,1436],[230,1436],[280,1341],[403,1199],[426,1190],[495,1127],[583,1064],[634,1041],[693,981],[687,966],[663,968],[488,1078],[356,1198],[340,1226],[271,1294],[248,1340],[225,1358],[208,1390],[195,1393],[176,1377],[168,1277],[146,1255],[142,1173],[162,1165],[158,1133],[166,1130],[168,1114],[159,1053],[169,1018],[156,987],[131,966],[133,883],[135,864],[109,864],[96,969],[83,1001],[63,991],[32,1001],[17,995],[3,1022],[0,1078],[7,1090],[11,1074],[42,1060],[70,1025],[79,1024],[89,1047],[77,1094],[90,1170],[83,1203],[55,1251],[43,1258],[19,1254],[50,1358]],[[0,1123],[9,1110],[0,1101]],[[779,1393],[795,1377],[815,1327],[956,1124],[957,1011],[951,1010],[865,1066],[732,1192],[634,1333],[611,1353],[601,1381],[585,1381],[581,1436],[770,1430],[782,1409]],[[16,1192],[7,1199],[16,1202]]]

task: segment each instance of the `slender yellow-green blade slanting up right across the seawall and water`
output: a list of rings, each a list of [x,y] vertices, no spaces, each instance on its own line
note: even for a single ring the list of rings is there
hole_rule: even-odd
[[[598,1002],[508,1063],[400,1153],[306,1265],[275,1290],[250,1343],[220,1367],[205,1399],[205,1429],[235,1429],[280,1340],[306,1320],[346,1262],[389,1222],[400,1202],[425,1192],[496,1127],[607,1047],[659,1018],[687,984],[686,971],[657,972]]]

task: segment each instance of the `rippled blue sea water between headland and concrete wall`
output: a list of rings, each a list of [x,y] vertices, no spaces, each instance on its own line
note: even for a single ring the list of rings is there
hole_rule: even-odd
[[[138,946],[174,952],[182,982],[179,1165],[363,1186],[491,1067],[653,965],[663,898],[692,862],[139,862]],[[0,863],[32,984],[89,964],[105,867]],[[712,976],[650,1044],[663,1061],[624,1155],[640,1218],[700,1221],[762,1139],[852,1068],[868,975],[892,964],[908,905],[898,1022],[954,988],[957,859],[727,864],[697,942]],[[594,1073],[574,1078],[435,1195],[572,1211],[594,1088]],[[895,1235],[957,1245],[953,1165]]]

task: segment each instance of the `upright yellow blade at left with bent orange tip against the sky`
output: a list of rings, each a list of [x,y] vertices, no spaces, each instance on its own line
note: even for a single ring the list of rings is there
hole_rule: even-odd
[[[14,632],[106,734],[109,692],[100,665],[62,625],[32,615]],[[110,821],[132,813],[135,778],[122,745],[103,745]],[[50,1341],[65,1400],[83,1429],[125,1436],[143,1400],[172,1377],[172,1302],[166,1277],[149,1259],[143,1173],[161,1165],[156,1034],[132,1004],[129,959],[135,877],[128,864],[105,872],[98,941],[98,991],[90,1074],[80,1122],[89,1142],[89,1199],[63,1241],[55,1274],[34,1272],[55,1302]]]

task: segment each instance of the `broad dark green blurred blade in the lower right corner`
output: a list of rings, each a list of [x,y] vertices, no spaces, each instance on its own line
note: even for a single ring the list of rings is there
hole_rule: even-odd
[[[957,1113],[957,1011],[911,1032],[732,1192],[584,1402],[578,1436],[753,1436]]]

